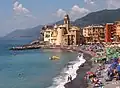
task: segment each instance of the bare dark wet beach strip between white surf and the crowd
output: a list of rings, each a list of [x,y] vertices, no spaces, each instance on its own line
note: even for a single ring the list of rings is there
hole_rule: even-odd
[[[84,63],[84,67],[79,66],[79,69],[77,70],[77,76],[74,80],[72,80],[69,83],[66,83],[64,86],[65,88],[87,88],[88,83],[86,80],[84,80],[85,73],[89,71],[92,68],[92,56],[88,53],[83,52],[84,59],[86,62]]]

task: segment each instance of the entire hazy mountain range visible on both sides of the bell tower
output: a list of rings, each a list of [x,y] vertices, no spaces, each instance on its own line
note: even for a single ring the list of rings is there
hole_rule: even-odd
[[[120,9],[116,10],[102,10],[97,12],[89,13],[88,15],[76,19],[74,22],[71,21],[71,24],[84,27],[87,25],[92,24],[105,24],[105,23],[111,23],[114,21],[120,20]],[[64,21],[58,21],[53,24],[63,24]],[[34,40],[37,39],[40,36],[40,30],[42,29],[43,25],[39,25],[34,28],[28,28],[24,30],[15,30],[8,35],[6,35],[5,39],[30,39]]]

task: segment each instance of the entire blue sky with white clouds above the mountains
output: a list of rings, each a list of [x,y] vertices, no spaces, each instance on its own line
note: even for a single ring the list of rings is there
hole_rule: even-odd
[[[120,0],[1,0],[0,36],[59,21],[65,14],[74,21],[90,12],[117,8]]]

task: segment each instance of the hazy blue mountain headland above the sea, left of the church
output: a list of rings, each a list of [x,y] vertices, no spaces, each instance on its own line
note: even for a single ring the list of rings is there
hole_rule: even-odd
[[[42,25],[39,25],[34,28],[27,28],[27,29],[18,29],[15,30],[6,36],[4,36],[4,39],[38,39],[40,37],[40,30],[42,30]]]

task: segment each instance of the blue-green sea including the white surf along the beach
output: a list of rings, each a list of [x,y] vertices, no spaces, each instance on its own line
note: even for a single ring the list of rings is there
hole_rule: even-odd
[[[76,77],[85,62],[76,52],[36,49],[11,51],[28,40],[0,40],[0,88],[64,88],[69,75]],[[51,61],[57,55],[60,60]]]

